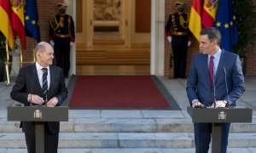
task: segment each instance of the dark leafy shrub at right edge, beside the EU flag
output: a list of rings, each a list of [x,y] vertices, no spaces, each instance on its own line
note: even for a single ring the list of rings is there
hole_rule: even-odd
[[[247,56],[253,54],[253,43],[256,40],[255,6],[253,6],[252,0],[233,0],[233,6],[236,14],[238,42],[232,47],[232,50],[240,56],[245,75]]]

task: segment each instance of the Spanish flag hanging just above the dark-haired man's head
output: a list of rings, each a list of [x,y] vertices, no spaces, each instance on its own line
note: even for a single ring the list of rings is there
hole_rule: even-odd
[[[201,24],[204,27],[212,27],[218,8],[218,0],[204,0]]]

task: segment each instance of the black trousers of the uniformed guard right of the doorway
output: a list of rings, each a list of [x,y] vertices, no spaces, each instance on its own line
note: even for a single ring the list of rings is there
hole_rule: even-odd
[[[172,36],[174,78],[186,77],[188,36]]]

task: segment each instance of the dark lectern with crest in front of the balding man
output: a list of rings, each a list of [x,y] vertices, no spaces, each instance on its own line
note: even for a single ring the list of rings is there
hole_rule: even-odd
[[[44,153],[44,122],[68,122],[68,107],[15,106],[7,109],[8,121],[36,122],[36,152]]]

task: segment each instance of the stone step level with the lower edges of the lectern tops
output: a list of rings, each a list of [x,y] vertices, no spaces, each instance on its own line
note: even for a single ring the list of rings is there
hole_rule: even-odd
[[[7,122],[0,118],[0,133],[19,133],[20,122]],[[70,118],[61,122],[66,133],[191,133],[191,119],[141,118]],[[232,133],[256,133],[256,120],[252,123],[232,123]]]

